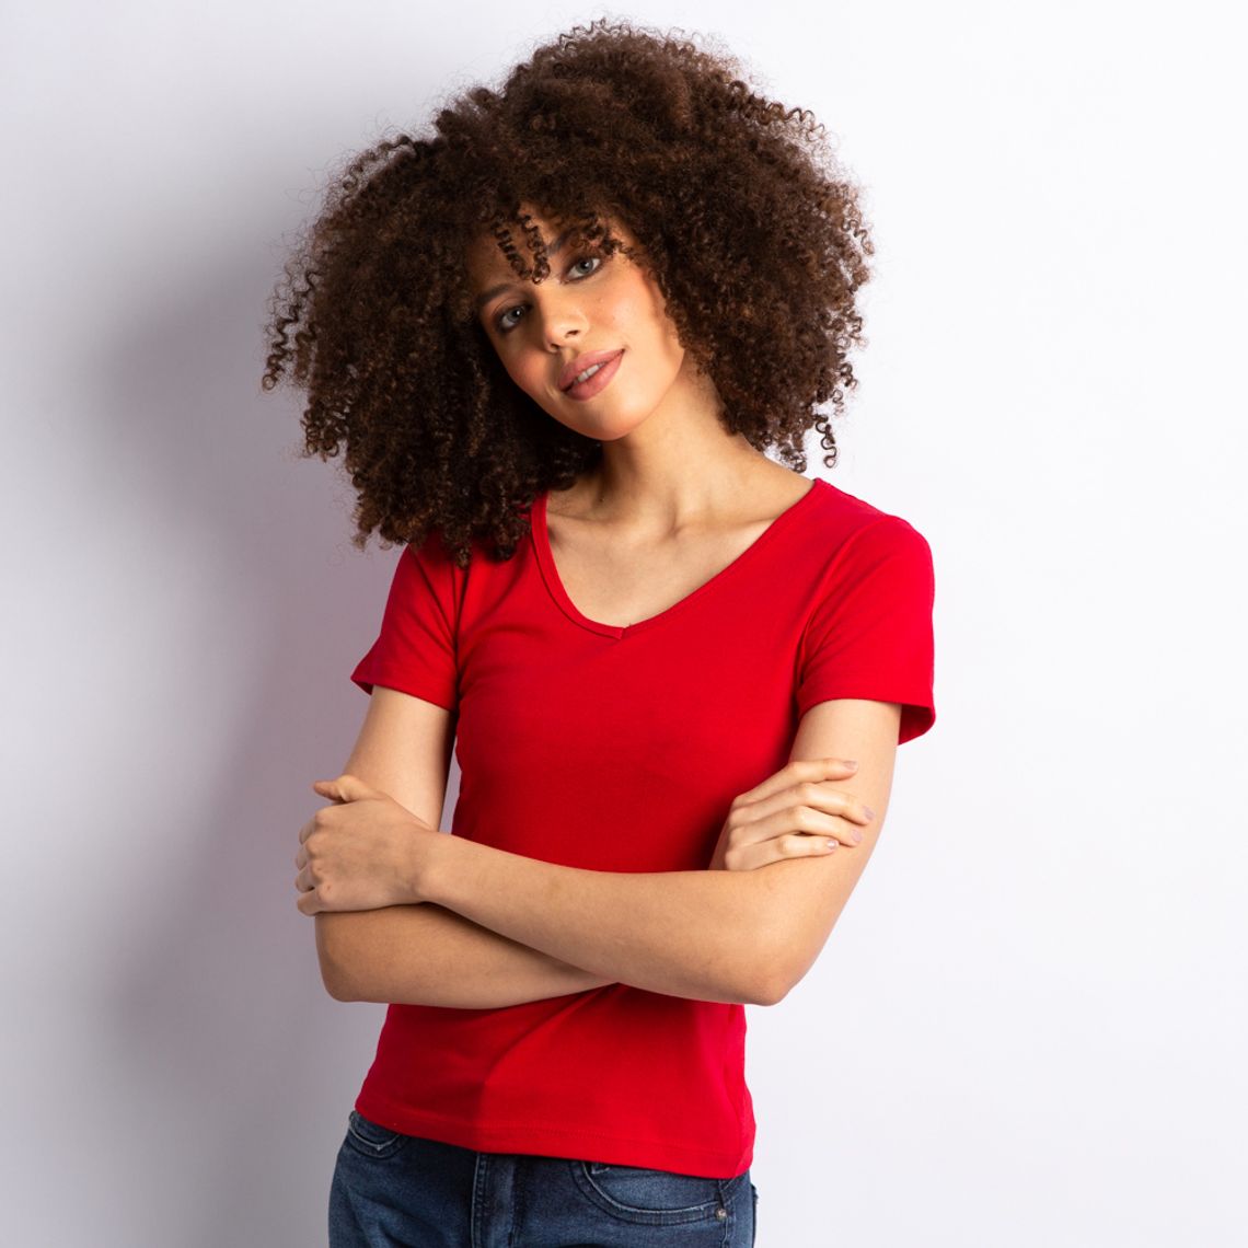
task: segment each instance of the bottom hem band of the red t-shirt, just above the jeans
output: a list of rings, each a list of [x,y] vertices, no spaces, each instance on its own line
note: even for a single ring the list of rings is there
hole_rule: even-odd
[[[444,1144],[484,1153],[525,1153],[540,1157],[565,1157],[618,1166],[644,1166],[701,1178],[735,1178],[753,1162],[753,1139],[733,1149],[701,1148],[670,1139],[622,1136],[617,1132],[587,1131],[547,1124],[492,1123],[482,1127],[441,1114],[392,1106],[361,1093],[356,1109],[371,1122],[404,1136],[421,1136]]]

